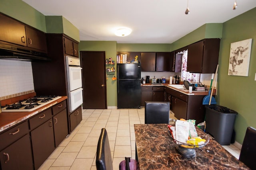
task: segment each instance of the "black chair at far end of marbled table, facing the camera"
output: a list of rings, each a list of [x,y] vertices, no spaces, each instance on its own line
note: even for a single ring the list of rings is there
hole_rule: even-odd
[[[145,102],[145,124],[169,123],[169,102]]]

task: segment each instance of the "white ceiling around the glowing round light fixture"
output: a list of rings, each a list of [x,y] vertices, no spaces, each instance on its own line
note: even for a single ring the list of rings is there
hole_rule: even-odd
[[[256,7],[256,0],[23,0],[45,16],[63,16],[80,41],[173,43],[205,23],[223,23]],[[132,33],[117,37],[114,31]]]

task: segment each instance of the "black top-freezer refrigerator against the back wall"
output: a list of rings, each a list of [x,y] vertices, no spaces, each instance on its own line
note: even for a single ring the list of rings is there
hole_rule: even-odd
[[[117,108],[140,108],[140,63],[117,64]]]

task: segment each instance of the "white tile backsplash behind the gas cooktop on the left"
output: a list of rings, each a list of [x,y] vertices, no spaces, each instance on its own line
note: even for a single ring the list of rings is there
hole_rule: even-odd
[[[34,92],[32,64],[0,59],[0,100]]]

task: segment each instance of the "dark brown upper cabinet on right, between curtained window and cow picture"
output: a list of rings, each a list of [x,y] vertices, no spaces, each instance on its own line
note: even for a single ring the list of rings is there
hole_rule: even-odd
[[[204,39],[188,45],[187,71],[214,73],[219,59],[220,39]]]

